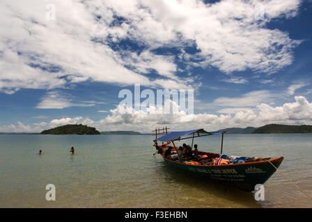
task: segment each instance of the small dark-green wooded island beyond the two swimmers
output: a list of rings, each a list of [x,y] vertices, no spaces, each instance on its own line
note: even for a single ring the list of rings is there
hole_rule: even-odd
[[[43,130],[40,134],[53,134],[53,135],[100,135],[100,132],[93,127],[79,125],[65,125]]]

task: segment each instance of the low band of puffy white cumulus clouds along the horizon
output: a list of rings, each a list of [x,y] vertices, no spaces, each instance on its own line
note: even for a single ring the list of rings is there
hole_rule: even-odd
[[[172,105],[177,105],[172,101]],[[205,128],[207,130],[219,130],[228,127],[263,126],[267,123],[281,124],[312,124],[312,103],[304,96],[295,96],[292,103],[284,103],[281,106],[273,107],[266,103],[256,105],[252,109],[228,110],[226,114],[187,114],[180,111],[177,114],[150,114],[149,110],[134,110],[127,107],[127,112],[120,112],[123,109],[116,107],[110,110],[109,114],[100,121],[93,121],[88,117],[68,117],[53,119],[49,123],[41,122],[33,124],[34,127],[18,122],[8,126],[0,126],[0,132],[40,132],[47,126],[56,127],[65,124],[82,123],[93,126],[98,130],[137,130],[150,132],[155,128],[170,126],[175,130],[185,128]],[[233,112],[235,111],[235,112]],[[225,113],[225,112],[224,112]]]

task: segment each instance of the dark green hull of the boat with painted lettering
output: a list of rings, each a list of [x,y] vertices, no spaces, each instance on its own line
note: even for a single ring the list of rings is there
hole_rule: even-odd
[[[267,160],[221,166],[187,165],[166,158],[164,160],[172,167],[192,175],[219,180],[245,191],[253,191],[256,185],[263,185],[272,176],[276,171],[275,167],[278,168],[283,161],[283,157],[270,160],[275,167]]]

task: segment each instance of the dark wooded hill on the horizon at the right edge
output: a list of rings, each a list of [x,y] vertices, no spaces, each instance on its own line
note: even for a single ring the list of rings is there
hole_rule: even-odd
[[[279,124],[267,124],[261,126],[252,133],[312,133],[312,126],[302,125],[302,126],[289,126],[289,125],[279,125]]]

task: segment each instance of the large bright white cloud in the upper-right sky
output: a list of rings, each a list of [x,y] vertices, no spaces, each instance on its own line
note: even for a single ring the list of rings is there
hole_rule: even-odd
[[[254,19],[256,3],[225,0],[205,5],[202,1],[143,1],[150,15],[147,12],[133,15],[132,9],[128,13],[122,10],[120,15],[140,21],[134,35],[142,36],[150,45],[159,44],[159,40],[163,44],[181,39],[195,42],[201,50],[198,55],[205,59],[202,65],[212,65],[226,73],[248,68],[274,72],[290,65],[292,48],[299,41],[290,40],[287,33],[277,29],[265,28],[264,24],[274,17],[295,16],[299,1],[261,1],[267,15],[263,22]]]

